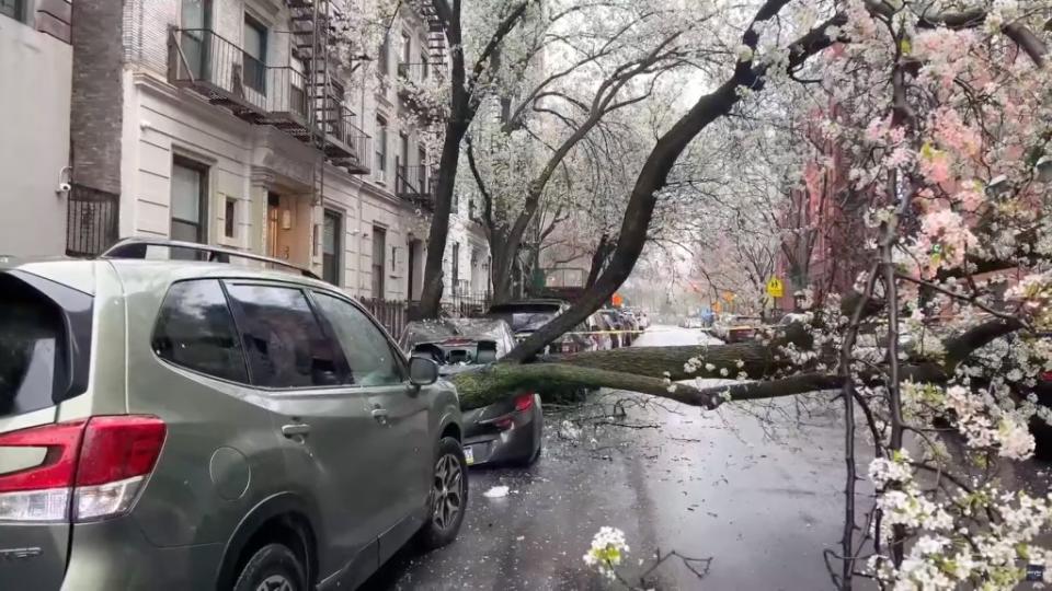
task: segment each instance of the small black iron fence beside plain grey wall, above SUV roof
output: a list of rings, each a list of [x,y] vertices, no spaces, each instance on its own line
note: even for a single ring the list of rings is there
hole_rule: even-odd
[[[66,254],[95,256],[117,242],[121,198],[75,184],[66,207]]]

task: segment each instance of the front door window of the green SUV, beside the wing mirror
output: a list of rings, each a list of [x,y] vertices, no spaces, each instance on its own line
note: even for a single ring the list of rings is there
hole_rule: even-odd
[[[351,383],[362,386],[398,384],[404,380],[395,350],[364,312],[320,292],[315,301],[340,338],[351,366]]]

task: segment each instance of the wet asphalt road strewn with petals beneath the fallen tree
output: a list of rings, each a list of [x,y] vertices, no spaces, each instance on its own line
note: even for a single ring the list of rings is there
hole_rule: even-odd
[[[704,338],[654,327],[637,345]],[[702,415],[652,399],[641,406],[645,398],[624,393],[599,398],[627,398],[627,416],[584,419],[603,415],[597,405],[546,408],[540,461],[529,470],[472,470],[458,541],[427,555],[403,551],[365,589],[605,589],[582,560],[603,525],[625,531],[625,573],[633,579],[658,549],[711,558],[704,578],[694,572],[704,563],[667,559],[649,577],[653,588],[832,587],[822,553],[841,534],[844,460],[842,421],[828,405],[793,399]],[[568,429],[570,419],[578,422]],[[483,497],[494,486],[511,494]]]

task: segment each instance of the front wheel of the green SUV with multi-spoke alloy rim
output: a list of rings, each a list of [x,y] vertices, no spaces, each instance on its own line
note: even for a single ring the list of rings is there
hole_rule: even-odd
[[[468,463],[460,442],[451,437],[438,441],[427,495],[427,521],[420,530],[424,549],[441,548],[457,538],[468,508]]]

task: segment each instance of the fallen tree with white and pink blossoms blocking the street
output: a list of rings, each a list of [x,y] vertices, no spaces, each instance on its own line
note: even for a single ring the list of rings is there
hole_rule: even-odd
[[[658,139],[595,285],[505,362],[458,376],[464,404],[557,383],[705,408],[837,391],[848,476],[842,548],[830,556],[835,583],[848,589],[865,575],[888,587],[1009,589],[1027,565],[1052,566],[1038,543],[1052,503],[1006,491],[995,470],[1032,454],[1028,422],[1052,418],[1027,395],[1052,370],[1042,337],[1052,327],[1043,32],[1052,7],[790,4],[756,4],[721,81]],[[691,140],[803,74],[838,107],[821,127],[845,150],[846,190],[866,204],[856,240],[869,265],[854,289],[752,343],[538,359],[628,277]],[[696,376],[741,381],[676,383]],[[856,413],[877,456],[866,471],[877,500],[860,512]]]

